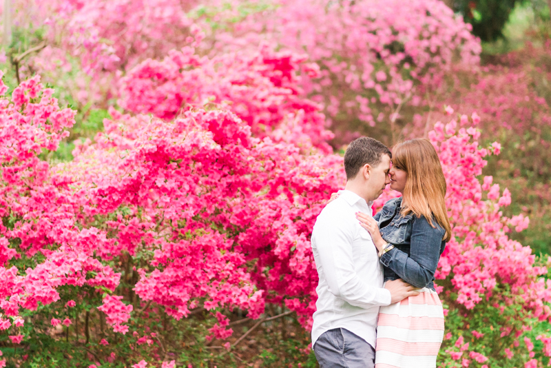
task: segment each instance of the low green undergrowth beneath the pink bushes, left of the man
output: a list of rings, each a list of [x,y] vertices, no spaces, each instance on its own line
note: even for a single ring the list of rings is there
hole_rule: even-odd
[[[65,303],[70,294],[70,290],[65,289],[63,301],[57,303]],[[98,298],[95,300],[95,306],[101,303],[99,294],[96,296]],[[25,329],[22,332],[28,335],[28,338],[20,347],[0,348],[3,358],[8,358],[8,367],[9,362],[17,362],[20,368],[88,367],[98,363],[101,367],[123,368],[130,367],[142,359],[149,362],[148,367],[160,367],[163,360],[176,360],[178,367],[187,367],[191,364],[193,367],[237,368],[244,362],[254,363],[257,367],[298,367],[299,363],[304,368],[318,367],[313,351],[308,355],[303,352],[307,343],[305,338],[309,336],[304,333],[300,334],[300,338],[273,340],[275,336],[280,335],[270,329],[261,329],[258,333],[251,334],[251,338],[255,340],[251,341],[249,346],[243,342],[238,347],[227,350],[220,347],[219,342],[211,345],[205,339],[209,334],[205,326],[215,323],[215,319],[207,311],[180,321],[167,317],[162,311],[134,316],[130,322],[132,325],[147,325],[147,331],[134,336],[129,333],[114,334],[108,327],[101,329],[98,326],[101,312],[97,311],[95,306],[77,303],[76,307],[66,308],[66,314],[57,318],[71,318],[72,325],[69,327],[54,328],[41,318],[51,313],[50,306],[40,307],[37,311],[29,313],[25,319],[33,320],[33,328],[22,327]],[[87,313],[90,334],[88,341],[85,339],[84,331]],[[147,319],[148,323],[145,323],[144,319]],[[237,337],[242,334],[241,329],[238,330],[234,333]],[[243,330],[246,331],[247,327]],[[156,336],[152,337],[152,333]],[[138,343],[138,339],[146,334],[149,336],[149,343]],[[108,340],[109,345],[101,345],[101,338]],[[0,344],[11,345],[7,338]],[[254,346],[256,344],[261,345],[258,351]]]

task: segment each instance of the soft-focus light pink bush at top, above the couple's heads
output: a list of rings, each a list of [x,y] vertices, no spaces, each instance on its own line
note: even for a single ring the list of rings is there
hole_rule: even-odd
[[[378,134],[389,134],[403,123],[399,118],[408,106],[428,102],[419,85],[435,83],[433,76],[455,63],[469,68],[479,61],[470,25],[442,1],[222,3],[191,12],[205,24],[207,51],[267,42],[306,52],[320,73],[304,81],[304,90],[324,103],[340,144],[350,141],[349,130],[367,127],[373,134],[369,127],[377,123]]]

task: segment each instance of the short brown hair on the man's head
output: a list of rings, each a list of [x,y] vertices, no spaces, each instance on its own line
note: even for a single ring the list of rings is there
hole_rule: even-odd
[[[383,154],[388,154],[388,157],[392,159],[391,150],[388,150],[388,147],[377,139],[361,136],[352,141],[344,152],[346,180],[355,178],[366,163],[372,167],[379,165]]]

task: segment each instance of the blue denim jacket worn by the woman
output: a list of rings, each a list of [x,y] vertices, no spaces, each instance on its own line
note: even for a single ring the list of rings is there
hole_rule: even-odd
[[[402,197],[391,199],[373,218],[379,223],[382,238],[394,249],[382,255],[384,280],[402,278],[415,287],[435,289],[436,267],[446,242],[445,230],[436,221],[430,226],[424,216],[400,214]]]

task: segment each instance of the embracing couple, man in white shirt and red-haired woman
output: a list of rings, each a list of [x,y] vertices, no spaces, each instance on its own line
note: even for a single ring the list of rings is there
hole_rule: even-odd
[[[436,150],[413,139],[391,153],[362,137],[346,149],[344,170],[346,188],[331,196],[311,238],[320,367],[436,367],[444,309],[433,280],[451,236]],[[371,216],[389,183],[402,196]]]

